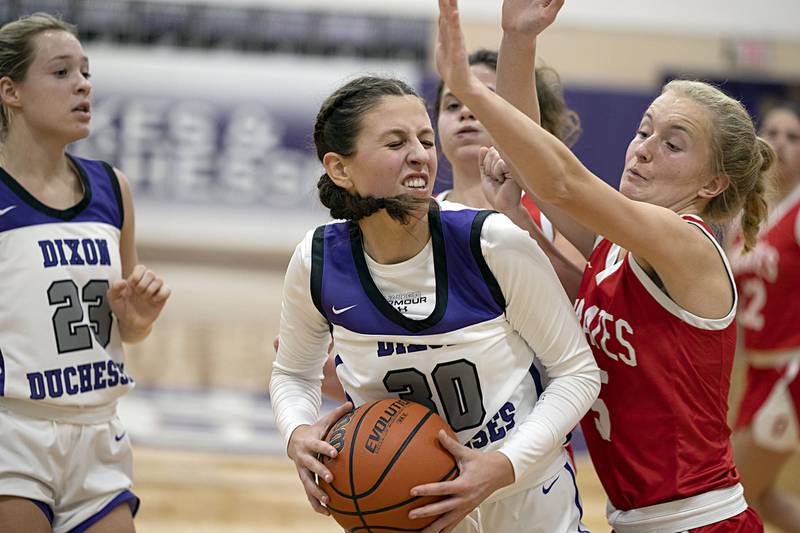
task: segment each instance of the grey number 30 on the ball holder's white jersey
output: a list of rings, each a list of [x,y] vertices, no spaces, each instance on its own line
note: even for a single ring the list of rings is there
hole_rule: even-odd
[[[466,359],[442,363],[436,365],[431,377],[453,431],[457,433],[482,425],[486,409],[474,364]],[[399,393],[404,400],[421,403],[439,412],[427,377],[416,368],[392,370],[384,376],[383,384],[388,392]]]

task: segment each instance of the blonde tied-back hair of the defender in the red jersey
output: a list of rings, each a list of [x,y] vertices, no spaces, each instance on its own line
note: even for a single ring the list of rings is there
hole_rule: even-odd
[[[700,81],[673,80],[662,94],[674,92],[700,104],[710,119],[712,175],[725,175],[730,185],[706,205],[703,215],[724,223],[742,211],[745,251],[756,244],[758,228],[767,217],[766,171],[775,160],[769,144],[756,135],[744,106],[716,87]]]

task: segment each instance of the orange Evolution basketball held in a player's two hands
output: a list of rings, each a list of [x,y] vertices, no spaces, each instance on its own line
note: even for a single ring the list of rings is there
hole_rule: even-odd
[[[331,516],[348,532],[419,531],[433,523],[437,517],[410,520],[408,513],[441,499],[414,498],[413,487],[458,476],[440,429],[455,438],[439,415],[400,399],[370,402],[340,418],[326,436],[338,454],[323,458],[333,483],[320,479]]]

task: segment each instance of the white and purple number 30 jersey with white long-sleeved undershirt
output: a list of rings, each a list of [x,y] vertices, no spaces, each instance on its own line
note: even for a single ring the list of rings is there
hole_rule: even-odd
[[[541,482],[563,467],[565,437],[599,390],[570,303],[546,256],[506,217],[432,210],[429,223],[425,249],[395,265],[372,261],[349,222],[298,245],[270,388],[278,427],[288,440],[316,420],[332,331],[355,405],[425,404],[463,444],[505,453],[518,482]]]

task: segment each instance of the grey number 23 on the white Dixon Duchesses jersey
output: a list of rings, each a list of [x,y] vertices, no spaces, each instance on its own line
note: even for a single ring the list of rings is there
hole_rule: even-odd
[[[58,353],[88,350],[94,338],[104,348],[111,339],[111,308],[106,300],[108,281],[93,279],[78,293],[78,286],[71,279],[54,281],[47,289],[50,305],[56,305],[53,313],[53,332]],[[83,304],[88,304],[89,324],[83,323]]]

